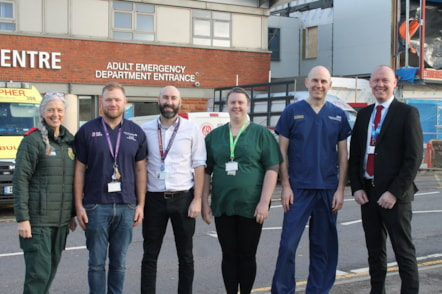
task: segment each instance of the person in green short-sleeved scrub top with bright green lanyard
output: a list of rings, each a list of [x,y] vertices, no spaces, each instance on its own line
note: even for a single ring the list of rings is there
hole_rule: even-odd
[[[226,103],[230,123],[206,137],[202,214],[208,224],[212,214],[215,218],[227,294],[247,294],[255,281],[256,250],[282,156],[272,133],[249,122],[247,91],[233,88]]]

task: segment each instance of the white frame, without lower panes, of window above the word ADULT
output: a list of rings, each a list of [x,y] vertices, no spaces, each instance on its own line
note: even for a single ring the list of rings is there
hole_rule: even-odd
[[[131,6],[131,9],[115,8],[114,4],[121,4]],[[140,11],[139,7],[151,8],[151,11]],[[132,40],[132,41],[154,41],[155,40],[155,5],[138,3],[138,2],[112,2],[112,38],[115,40]],[[118,28],[116,27],[116,14],[126,13],[131,16],[130,28]],[[152,30],[137,29],[137,17],[138,16],[151,16],[152,17]],[[125,35],[125,37],[124,37]]]

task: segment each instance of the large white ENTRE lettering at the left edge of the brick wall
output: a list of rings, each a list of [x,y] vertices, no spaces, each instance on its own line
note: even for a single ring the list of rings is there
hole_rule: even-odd
[[[61,69],[61,53],[0,49],[0,67]]]

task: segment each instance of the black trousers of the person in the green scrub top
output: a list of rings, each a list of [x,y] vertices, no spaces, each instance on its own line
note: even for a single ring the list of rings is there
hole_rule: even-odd
[[[221,271],[227,294],[252,291],[256,277],[256,250],[262,224],[254,218],[238,215],[215,218],[216,232],[222,250]]]

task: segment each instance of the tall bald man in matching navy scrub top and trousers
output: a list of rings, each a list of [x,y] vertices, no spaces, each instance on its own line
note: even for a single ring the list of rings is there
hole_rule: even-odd
[[[284,158],[280,167],[284,223],[272,293],[295,293],[296,249],[309,222],[310,267],[306,293],[328,293],[338,262],[337,211],[344,202],[347,137],[345,112],[326,101],[332,82],[323,66],[305,81],[309,97],[286,107],[275,131]]]

